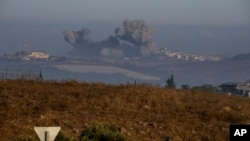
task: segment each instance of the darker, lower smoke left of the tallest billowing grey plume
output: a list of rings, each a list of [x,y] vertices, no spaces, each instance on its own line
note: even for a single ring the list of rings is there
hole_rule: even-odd
[[[72,55],[80,57],[122,57],[122,50],[117,47],[120,46],[120,41],[115,36],[109,36],[108,39],[101,42],[94,42],[91,39],[91,30],[83,28],[80,31],[63,32],[64,39],[74,46]]]

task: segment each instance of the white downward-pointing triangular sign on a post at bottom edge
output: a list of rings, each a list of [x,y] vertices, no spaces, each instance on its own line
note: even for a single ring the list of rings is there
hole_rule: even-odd
[[[40,141],[54,141],[61,127],[34,127]]]

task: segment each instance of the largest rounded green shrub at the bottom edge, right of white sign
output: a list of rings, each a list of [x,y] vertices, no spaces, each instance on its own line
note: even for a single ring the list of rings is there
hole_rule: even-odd
[[[80,141],[125,141],[116,125],[111,123],[100,124],[86,128],[80,136]]]

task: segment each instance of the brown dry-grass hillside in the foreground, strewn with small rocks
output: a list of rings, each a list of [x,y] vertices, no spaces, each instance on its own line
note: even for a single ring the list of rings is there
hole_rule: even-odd
[[[230,123],[250,122],[250,100],[149,85],[0,81],[1,140],[34,138],[34,126],[61,126],[79,138],[112,122],[137,141],[229,140]]]

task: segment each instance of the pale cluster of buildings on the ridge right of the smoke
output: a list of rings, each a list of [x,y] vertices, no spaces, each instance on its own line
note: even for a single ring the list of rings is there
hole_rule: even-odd
[[[170,51],[167,48],[161,49],[161,54],[169,58],[185,61],[219,61],[220,58],[216,56],[202,56],[197,54],[187,54],[180,51]]]

